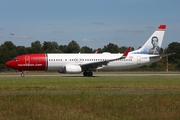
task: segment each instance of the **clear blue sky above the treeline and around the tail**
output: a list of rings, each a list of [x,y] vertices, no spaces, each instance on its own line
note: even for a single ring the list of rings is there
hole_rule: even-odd
[[[137,49],[166,24],[167,48],[180,42],[179,6],[180,0],[0,0],[0,45],[75,40],[93,49],[109,43]]]

